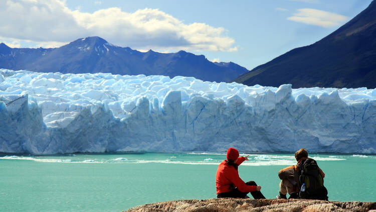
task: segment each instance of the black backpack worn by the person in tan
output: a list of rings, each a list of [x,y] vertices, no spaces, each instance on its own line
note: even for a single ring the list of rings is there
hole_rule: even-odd
[[[299,189],[305,183],[305,191],[299,190],[299,198],[328,200],[328,190],[324,186],[324,179],[316,161],[312,158],[304,159],[298,168]]]

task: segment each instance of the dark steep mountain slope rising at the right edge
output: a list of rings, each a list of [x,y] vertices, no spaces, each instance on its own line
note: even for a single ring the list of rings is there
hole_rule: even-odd
[[[376,1],[322,40],[293,49],[233,81],[278,87],[376,87]]]

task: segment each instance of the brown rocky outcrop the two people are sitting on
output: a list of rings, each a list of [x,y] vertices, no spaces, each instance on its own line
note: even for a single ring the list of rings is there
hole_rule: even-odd
[[[376,202],[339,202],[307,199],[189,199],[174,200],[145,204],[132,207],[127,212],[147,211],[373,211],[376,212]]]

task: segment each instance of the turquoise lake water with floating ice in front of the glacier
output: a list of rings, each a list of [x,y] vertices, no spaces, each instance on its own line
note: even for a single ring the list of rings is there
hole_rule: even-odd
[[[376,201],[376,156],[310,155],[325,172],[329,200]],[[225,154],[0,155],[0,210],[122,211],[175,199],[216,197],[215,175]],[[278,194],[287,154],[252,154],[240,177]]]

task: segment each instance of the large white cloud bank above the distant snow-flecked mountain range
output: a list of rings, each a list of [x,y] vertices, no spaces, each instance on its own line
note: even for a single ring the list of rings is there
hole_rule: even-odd
[[[8,0],[0,8],[0,36],[41,44],[99,36],[135,49],[237,51],[234,39],[225,33],[205,23],[184,24],[158,9],[83,13],[59,0]]]

